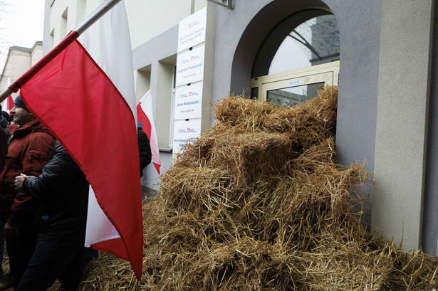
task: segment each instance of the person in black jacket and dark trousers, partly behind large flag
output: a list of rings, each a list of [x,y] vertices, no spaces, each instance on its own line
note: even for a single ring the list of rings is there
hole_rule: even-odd
[[[38,177],[17,176],[17,191],[38,201],[36,228],[42,234],[18,290],[47,290],[58,280],[76,290],[82,275],[89,184],[57,142]]]

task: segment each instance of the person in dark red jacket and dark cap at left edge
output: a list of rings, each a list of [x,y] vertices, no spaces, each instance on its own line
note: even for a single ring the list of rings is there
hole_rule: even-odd
[[[0,217],[16,288],[35,250],[36,233],[32,229],[35,201],[31,195],[16,191],[14,180],[21,173],[29,176],[41,174],[56,139],[27,110],[20,96],[16,97],[11,114],[18,126],[8,126],[11,137],[0,173]]]

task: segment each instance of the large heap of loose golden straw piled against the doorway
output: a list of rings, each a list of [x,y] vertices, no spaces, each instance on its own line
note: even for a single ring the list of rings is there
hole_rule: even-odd
[[[335,163],[338,90],[295,107],[225,97],[144,206],[143,276],[112,255],[81,290],[432,290],[438,260],[360,223],[363,164]]]

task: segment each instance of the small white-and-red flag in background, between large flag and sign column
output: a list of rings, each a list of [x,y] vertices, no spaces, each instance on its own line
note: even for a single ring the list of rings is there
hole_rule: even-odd
[[[147,138],[150,142],[152,152],[152,164],[160,175],[160,149],[158,148],[157,131],[155,130],[154,115],[152,112],[152,94],[149,91],[142,97],[137,104],[137,119],[143,124]]]

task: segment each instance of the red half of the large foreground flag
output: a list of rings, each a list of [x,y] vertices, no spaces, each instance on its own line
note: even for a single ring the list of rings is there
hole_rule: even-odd
[[[93,247],[130,260],[140,278],[138,144],[135,120],[125,99],[78,41],[28,80],[21,97],[78,163],[120,234]]]

